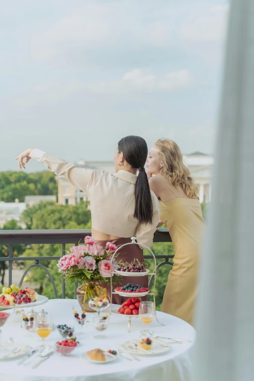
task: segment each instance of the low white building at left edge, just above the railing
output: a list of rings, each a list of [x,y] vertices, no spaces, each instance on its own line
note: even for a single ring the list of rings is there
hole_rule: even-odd
[[[25,210],[25,202],[18,202],[18,199],[15,202],[3,202],[0,201],[0,228],[3,228],[3,225],[15,219],[22,229],[26,228],[26,225],[23,222],[20,222],[21,214]]]

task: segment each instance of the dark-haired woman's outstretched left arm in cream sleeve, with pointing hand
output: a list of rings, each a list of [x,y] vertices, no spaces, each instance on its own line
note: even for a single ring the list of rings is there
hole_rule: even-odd
[[[24,159],[25,163],[23,162]],[[88,184],[91,180],[93,172],[92,169],[80,168],[77,165],[56,158],[37,148],[28,148],[18,155],[16,160],[18,160],[19,168],[25,169],[25,164],[28,163],[30,159],[35,159],[41,163],[44,163],[47,168],[54,172],[57,176],[62,175],[78,189],[88,191]]]

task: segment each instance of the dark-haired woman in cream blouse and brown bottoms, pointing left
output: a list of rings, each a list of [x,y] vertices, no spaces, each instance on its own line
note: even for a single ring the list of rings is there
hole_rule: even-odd
[[[20,169],[25,168],[25,163],[31,158],[40,161],[56,175],[65,176],[77,189],[89,194],[92,237],[100,245],[111,242],[119,247],[136,236],[138,243],[150,247],[159,222],[160,207],[157,197],[149,189],[145,173],[147,153],[143,138],[127,136],[121,139],[114,154],[114,174],[99,169],[83,169],[36,148],[27,149],[16,159]],[[123,248],[117,260],[121,259],[144,262],[138,245]],[[141,286],[148,287],[147,276],[136,280]],[[133,278],[125,277],[125,282],[133,283]],[[120,304],[122,297],[113,295],[112,302]]]

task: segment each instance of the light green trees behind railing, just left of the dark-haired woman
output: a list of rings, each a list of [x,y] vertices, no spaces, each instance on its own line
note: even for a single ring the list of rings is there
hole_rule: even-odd
[[[23,212],[23,221],[31,229],[86,229],[91,223],[91,212],[87,209],[87,203],[81,202],[76,206],[54,205],[50,202],[40,203]],[[74,244],[74,242],[73,242]],[[73,245],[66,245],[66,251]],[[62,256],[60,244],[36,244],[28,247],[23,253],[25,257],[40,256],[40,264],[45,266],[52,274],[58,297],[62,295],[62,277],[58,276],[57,260],[44,260],[43,256]],[[25,262],[27,269],[34,261]],[[41,268],[32,268],[27,274],[27,280],[33,282],[40,294],[54,298],[54,290],[50,279]],[[73,298],[74,286],[66,281],[66,297]]]

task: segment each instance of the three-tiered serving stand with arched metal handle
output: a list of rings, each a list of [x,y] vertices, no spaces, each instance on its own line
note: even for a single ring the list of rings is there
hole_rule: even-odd
[[[111,269],[113,268],[112,267],[112,263],[113,263],[113,258],[116,256],[116,254],[120,251],[120,249],[122,249],[124,246],[127,246],[127,245],[138,245],[139,247],[141,247],[142,249],[146,249],[146,250],[149,250],[149,252],[152,254],[153,258],[154,258],[154,264],[155,264],[155,270],[154,272],[152,273],[149,273],[149,272],[118,272],[118,271],[115,271],[115,272],[111,272],[111,276],[110,276],[110,294],[111,294],[111,297],[110,297],[110,301],[112,300],[112,294],[118,294],[118,295],[121,295],[121,296],[124,296],[126,298],[129,298],[131,296],[136,296],[136,297],[142,297],[142,296],[146,296],[146,295],[153,295],[153,302],[154,302],[154,308],[155,308],[155,318],[157,320],[157,322],[161,325],[161,326],[164,326],[163,323],[159,322],[158,318],[157,318],[157,315],[156,315],[156,303],[155,303],[155,286],[156,286],[156,258],[155,258],[155,255],[153,254],[153,252],[151,251],[151,249],[149,249],[147,246],[145,246],[144,244],[142,243],[137,243],[136,241],[136,237],[131,237],[131,242],[129,243],[125,243],[124,245],[122,246],[119,246],[119,248],[114,252],[114,254],[112,255],[112,258],[111,258]],[[112,285],[112,275],[114,273],[118,273],[122,276],[132,276],[133,278],[135,277],[140,277],[140,276],[145,276],[145,275],[150,275],[152,276],[152,278],[154,279],[154,292],[141,292],[141,293],[136,293],[134,292],[133,294],[131,293],[126,293],[126,292],[115,292],[113,291],[113,285]],[[115,314],[117,316],[123,316],[124,318],[128,318],[128,329],[127,331],[130,332],[131,331],[131,319],[132,318],[138,318],[139,315],[124,315],[120,312],[118,312],[118,308],[111,308],[111,303],[110,303],[110,314]]]

